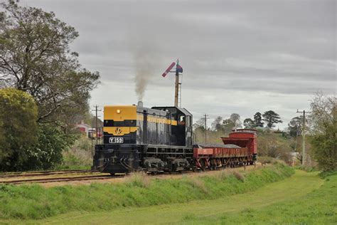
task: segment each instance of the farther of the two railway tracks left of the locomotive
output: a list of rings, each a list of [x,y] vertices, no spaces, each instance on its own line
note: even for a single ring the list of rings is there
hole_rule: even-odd
[[[72,169],[72,170],[48,170],[48,171],[34,171],[34,172],[15,172],[15,173],[6,173],[0,174],[0,178],[9,178],[9,177],[40,177],[48,176],[53,174],[75,174],[75,173],[87,173],[87,172],[97,172],[91,169]]]

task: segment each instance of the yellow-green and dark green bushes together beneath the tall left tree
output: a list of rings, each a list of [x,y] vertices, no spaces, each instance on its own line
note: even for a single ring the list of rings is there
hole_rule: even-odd
[[[0,90],[0,170],[52,169],[75,140],[52,124],[37,124],[31,95],[14,88]]]

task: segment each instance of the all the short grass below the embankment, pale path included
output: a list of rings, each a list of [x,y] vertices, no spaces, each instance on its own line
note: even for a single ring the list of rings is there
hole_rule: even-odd
[[[317,176],[317,172],[297,170],[293,176],[269,183],[254,192],[215,199],[158,206],[120,207],[109,211],[73,211],[42,220],[7,220],[6,222],[16,224],[247,224],[250,221],[251,224],[333,224],[336,220],[336,211],[328,209],[336,210],[336,201],[333,199],[336,191],[331,194],[326,192],[331,191],[335,184],[330,184],[326,191],[321,192],[322,189],[327,188],[327,183],[321,187],[323,183],[324,180]],[[321,194],[316,196],[315,192]],[[331,200],[322,198],[326,194],[332,197]],[[306,202],[309,197],[309,200],[313,201],[311,204]],[[298,205],[301,199],[306,202],[303,204],[304,209],[301,209],[301,204]],[[325,204],[326,201],[327,204]],[[288,208],[289,202],[294,204]],[[317,202],[324,204],[315,206]],[[298,211],[291,213],[294,209]],[[311,213],[314,215],[310,216]],[[296,214],[299,215],[297,220],[294,219]],[[302,219],[301,216],[309,216],[309,219],[307,217]]]

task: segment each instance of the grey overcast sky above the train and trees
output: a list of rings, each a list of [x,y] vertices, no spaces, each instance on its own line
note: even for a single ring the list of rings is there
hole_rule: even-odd
[[[274,110],[280,129],[309,110],[317,91],[336,94],[336,1],[20,0],[54,11],[80,33],[84,68],[99,71],[91,105],[137,103],[135,76],[149,68],[144,105],[173,105],[179,58],[182,106],[198,120],[232,112],[243,121]],[[139,63],[139,59],[143,63]],[[211,121],[209,121],[210,123]]]

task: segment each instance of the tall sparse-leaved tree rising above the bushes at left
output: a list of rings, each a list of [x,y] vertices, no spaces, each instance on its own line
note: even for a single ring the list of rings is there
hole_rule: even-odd
[[[70,51],[75,28],[33,7],[2,3],[0,13],[0,87],[29,93],[38,105],[38,122],[65,127],[88,110],[99,73],[81,68]]]

